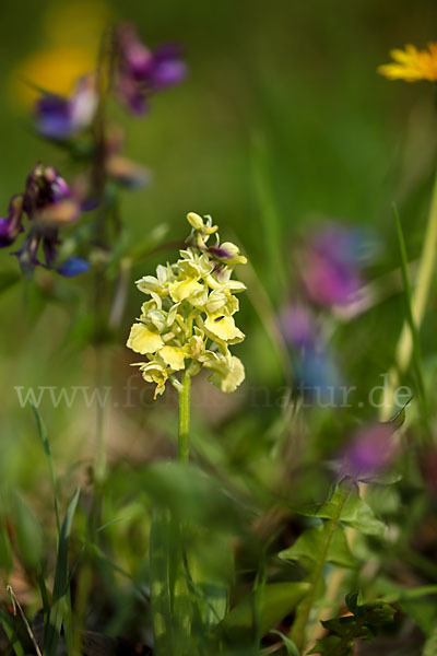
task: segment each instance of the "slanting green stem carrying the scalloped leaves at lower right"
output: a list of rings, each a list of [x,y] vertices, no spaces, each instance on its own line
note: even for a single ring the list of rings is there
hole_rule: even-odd
[[[327,562],[329,547],[331,544],[334,531],[339,525],[344,504],[346,503],[346,501],[349,499],[352,487],[349,484],[343,485],[342,488],[340,488],[340,490],[342,490],[343,496],[341,499],[341,502],[339,503],[335,515],[328,522],[327,535],[324,538],[323,549],[322,549],[320,558],[319,558],[318,562],[316,563],[316,566],[311,573],[311,576],[309,578],[309,583],[311,584],[311,589],[309,590],[308,595],[304,598],[304,600],[297,607],[296,618],[295,618],[295,621],[292,626],[291,639],[296,643],[296,646],[298,649],[303,649],[303,647],[305,645],[305,636],[306,636],[308,620],[309,620],[309,616],[312,610],[314,602],[317,597],[319,582],[323,575],[323,569],[324,569],[324,565]]]

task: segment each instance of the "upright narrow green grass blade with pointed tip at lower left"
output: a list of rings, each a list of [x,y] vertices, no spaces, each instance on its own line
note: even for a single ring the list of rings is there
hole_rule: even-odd
[[[68,570],[68,549],[70,542],[71,527],[78,505],[80,489],[74,493],[73,499],[67,509],[59,535],[58,559],[55,570],[55,583],[52,593],[52,605],[45,626],[45,656],[56,656],[59,635],[61,632],[62,620],[69,599],[69,570]]]

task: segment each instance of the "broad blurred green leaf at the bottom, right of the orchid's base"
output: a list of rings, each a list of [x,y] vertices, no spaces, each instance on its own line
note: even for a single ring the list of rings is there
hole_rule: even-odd
[[[265,635],[309,591],[308,583],[270,583],[264,586],[259,609],[260,633]],[[255,594],[246,597],[220,623],[218,630],[232,643],[247,643],[253,639]],[[220,635],[220,633],[218,633]]]

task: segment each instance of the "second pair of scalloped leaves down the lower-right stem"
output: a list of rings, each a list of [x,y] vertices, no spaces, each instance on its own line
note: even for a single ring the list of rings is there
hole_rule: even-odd
[[[279,553],[283,560],[309,561],[316,563],[322,558],[328,526],[315,526],[302,534],[292,547]],[[329,543],[326,562],[342,567],[356,567],[356,561],[349,548],[344,530],[338,526]]]

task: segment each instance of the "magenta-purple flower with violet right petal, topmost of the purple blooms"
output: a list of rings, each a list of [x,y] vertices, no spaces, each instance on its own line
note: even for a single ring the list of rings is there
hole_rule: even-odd
[[[125,24],[116,30],[116,49],[118,93],[133,114],[147,112],[151,95],[179,84],[187,74],[177,45],[150,50],[133,25]]]

